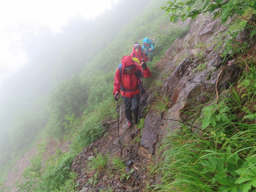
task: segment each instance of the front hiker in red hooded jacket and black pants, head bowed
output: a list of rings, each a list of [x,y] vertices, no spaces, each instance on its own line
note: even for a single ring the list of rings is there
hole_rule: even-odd
[[[146,62],[142,62],[141,65],[133,61],[130,55],[124,56],[121,60],[122,70],[119,68],[115,73],[115,83],[114,83],[114,99],[117,101],[119,99],[119,93],[124,100],[124,113],[128,121],[128,126],[132,127],[132,114],[134,117],[134,124],[138,124],[139,120],[139,106],[140,106],[140,86],[138,81],[138,76],[141,76],[143,68],[143,77],[147,78],[151,76],[151,71],[146,65]],[[138,75],[139,74],[139,75]],[[136,132],[140,130],[135,128]]]

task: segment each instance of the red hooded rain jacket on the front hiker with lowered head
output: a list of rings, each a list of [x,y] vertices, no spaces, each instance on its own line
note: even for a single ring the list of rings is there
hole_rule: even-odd
[[[121,63],[122,63],[122,78],[120,76],[119,68],[117,68],[115,73],[113,95],[115,95],[116,92],[118,92],[119,94],[121,90],[121,86],[123,86],[126,90],[133,90],[133,91],[125,91],[125,92],[121,91],[122,96],[131,98],[134,95],[140,93],[139,81],[134,73],[137,70],[140,70],[140,72],[142,72],[142,68],[139,64],[137,64],[132,60],[132,57],[130,55],[124,56],[121,60]],[[134,65],[134,68],[130,74],[127,74],[125,73],[124,68],[129,65]],[[150,76],[151,76],[151,71],[149,70],[149,68],[146,67],[145,69],[143,69],[143,77],[148,78]]]

